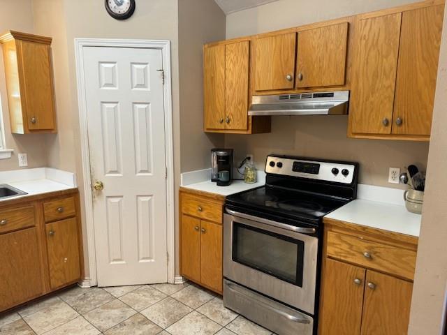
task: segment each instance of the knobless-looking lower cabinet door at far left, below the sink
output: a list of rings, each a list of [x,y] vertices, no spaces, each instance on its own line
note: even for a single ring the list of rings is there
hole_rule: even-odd
[[[0,312],[43,293],[37,228],[0,235]]]

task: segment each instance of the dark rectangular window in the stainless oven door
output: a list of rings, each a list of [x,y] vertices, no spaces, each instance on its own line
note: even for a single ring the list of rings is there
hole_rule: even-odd
[[[233,221],[233,261],[302,287],[305,243]]]

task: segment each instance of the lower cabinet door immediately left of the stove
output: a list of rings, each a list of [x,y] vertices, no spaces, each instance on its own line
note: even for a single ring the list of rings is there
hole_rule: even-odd
[[[222,292],[222,225],[201,222],[201,282]]]

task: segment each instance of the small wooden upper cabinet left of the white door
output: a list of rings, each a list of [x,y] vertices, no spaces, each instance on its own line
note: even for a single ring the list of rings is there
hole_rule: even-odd
[[[54,133],[51,38],[8,31],[0,36],[12,133]]]

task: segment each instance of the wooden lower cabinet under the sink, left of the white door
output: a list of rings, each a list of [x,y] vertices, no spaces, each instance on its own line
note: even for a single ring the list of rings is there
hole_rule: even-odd
[[[0,227],[0,313],[82,278],[78,190],[1,202]]]

